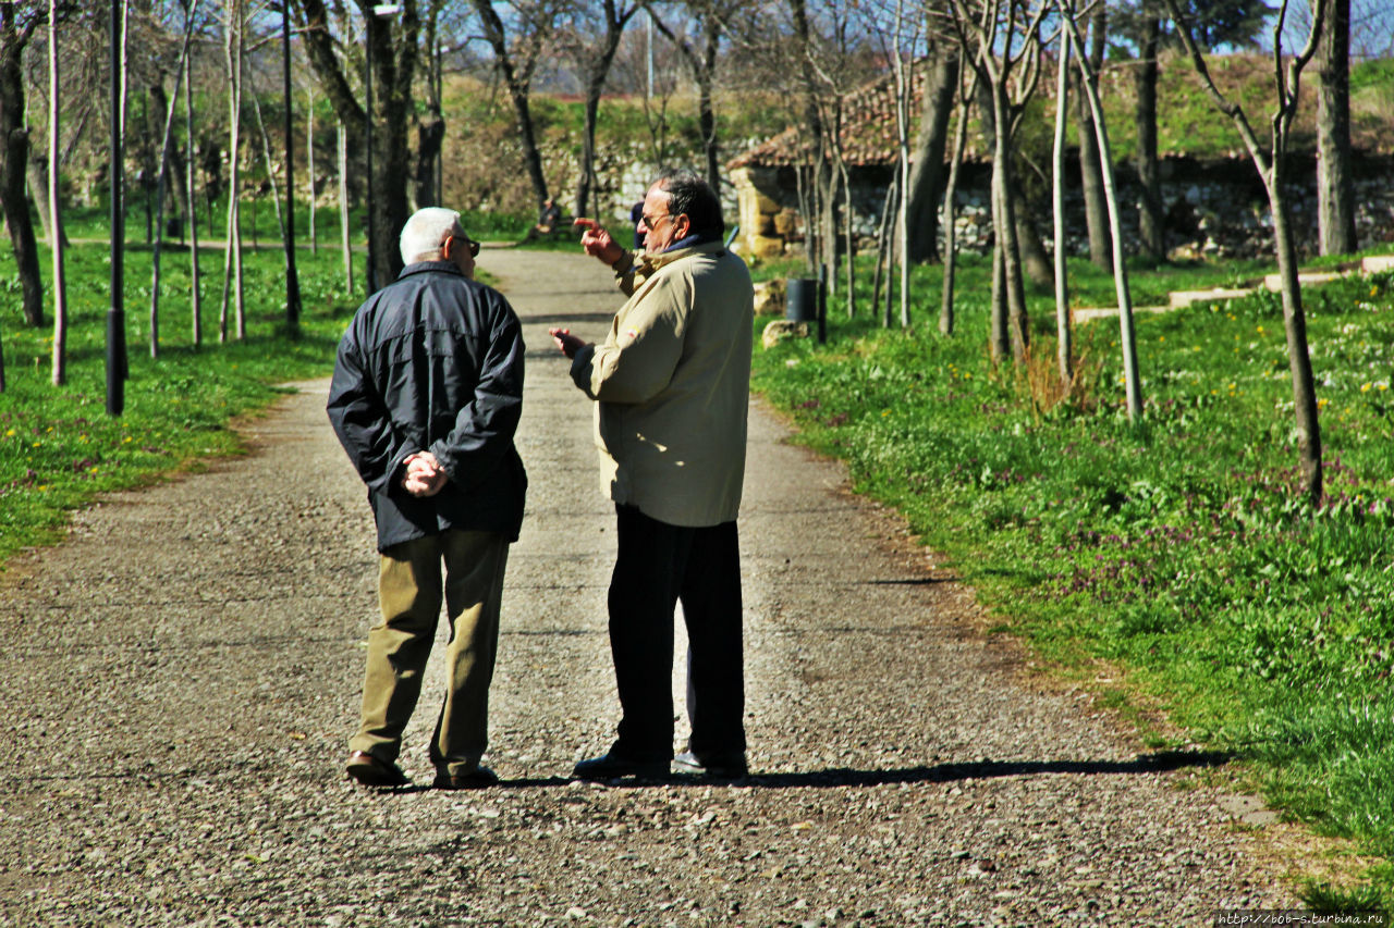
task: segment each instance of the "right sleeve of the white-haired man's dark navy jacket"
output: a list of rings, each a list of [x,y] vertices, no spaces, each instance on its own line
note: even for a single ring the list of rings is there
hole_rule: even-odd
[[[513,453],[513,435],[523,412],[523,329],[512,307],[495,295],[493,326],[474,396],[456,415],[447,435],[428,449],[460,489],[489,477]]]

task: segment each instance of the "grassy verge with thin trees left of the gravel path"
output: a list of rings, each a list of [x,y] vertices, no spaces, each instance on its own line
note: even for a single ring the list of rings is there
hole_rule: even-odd
[[[130,380],[125,411],[106,412],[106,245],[67,252],[68,382],[50,379],[52,307],[43,329],[25,326],[8,249],[0,249],[0,309],[7,386],[0,393],[0,564],[15,552],[56,539],[67,513],[96,493],[141,485],[199,458],[237,453],[229,421],[263,408],[275,385],[321,376],[361,294],[344,290],[339,254],[297,256],[304,311],[297,337],[284,330],[284,258],[247,252],[247,337],[219,343],[222,252],[201,251],[204,340],[191,339],[188,252],[162,255],[160,355],[149,353],[151,254],[127,252],[125,312]],[[43,254],[47,280],[47,252]],[[361,272],[358,274],[361,281]],[[361,287],[361,283],[360,283]]]

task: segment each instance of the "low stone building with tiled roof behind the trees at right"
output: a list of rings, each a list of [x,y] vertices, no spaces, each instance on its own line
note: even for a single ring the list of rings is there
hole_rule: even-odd
[[[1185,67],[1174,61],[1172,67]],[[1054,113],[1054,88],[1041,82],[1039,93],[1044,106],[1039,118]],[[1131,88],[1119,75],[1111,78],[1112,92],[1125,93]],[[1105,81],[1105,92],[1110,81]],[[912,114],[920,110],[919,82],[913,86]],[[887,188],[896,163],[896,127],[894,114],[894,82],[889,78],[868,84],[845,100],[846,118],[842,146],[850,176],[852,223],[855,233],[873,238],[880,229]],[[1313,95],[1308,93],[1308,98]],[[1128,98],[1131,99],[1131,96]],[[1165,102],[1158,114],[1165,120]],[[1315,103],[1308,100],[1308,110]],[[1266,113],[1250,113],[1250,120],[1263,121]],[[1216,113],[1216,120],[1227,117]],[[1308,111],[1310,118],[1310,111]],[[916,131],[912,125],[912,132]],[[991,160],[981,149],[980,135],[969,130],[969,146],[960,169],[955,198],[955,233],[958,247],[966,251],[987,251],[993,244]],[[952,131],[952,127],[951,127]],[[1112,134],[1131,132],[1131,123],[1114,125]],[[1048,132],[1047,132],[1048,138]],[[1073,139],[1073,127],[1071,127]],[[1366,124],[1352,127],[1355,144],[1356,233],[1359,247],[1369,248],[1394,241],[1394,132],[1387,121],[1383,132],[1370,131]],[[913,152],[912,135],[912,152]],[[1316,155],[1309,131],[1299,141],[1292,159],[1289,201],[1294,206],[1294,227],[1303,252],[1316,249]],[[1050,155],[1032,159],[1041,171],[1050,170]],[[736,187],[742,248],[747,255],[772,258],[795,254],[803,241],[803,219],[799,215],[799,181],[796,164],[807,164],[807,146],[797,128],[789,128],[756,145],[728,163]],[[1138,202],[1140,188],[1131,162],[1115,160],[1115,180],[1121,206],[1124,235],[1129,251],[1138,251]],[[1161,195],[1165,212],[1168,252],[1174,258],[1195,256],[1250,256],[1271,249],[1273,220],[1269,215],[1267,194],[1259,174],[1243,152],[1235,134],[1235,150],[1220,157],[1192,157],[1184,152],[1164,152],[1160,159]],[[1051,247],[1050,181],[1033,169],[1019,171],[1026,188],[1026,215],[1036,222],[1047,248]],[[1085,223],[1083,194],[1080,191],[1078,149],[1066,155],[1066,229],[1071,254],[1087,254],[1089,240]],[[942,194],[941,194],[942,198]]]

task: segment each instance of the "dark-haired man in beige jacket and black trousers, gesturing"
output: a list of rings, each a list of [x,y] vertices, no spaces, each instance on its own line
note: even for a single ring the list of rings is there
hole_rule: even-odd
[[[609,635],[622,719],[613,747],[577,764],[574,776],[743,776],[736,511],[750,401],[750,272],[722,245],[721,201],[693,171],[665,173],[648,188],[641,258],[594,220],[574,222],[583,248],[615,269],[629,295],[602,344],[549,330],[572,358],[572,379],[597,400],[601,478],[619,528]],[[691,740],[673,757],[679,601]]]

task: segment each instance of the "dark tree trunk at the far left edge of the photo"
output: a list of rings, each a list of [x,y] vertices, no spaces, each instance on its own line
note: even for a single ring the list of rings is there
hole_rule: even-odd
[[[18,28],[15,4],[0,4],[0,209],[4,212],[14,262],[24,290],[24,319],[43,325],[43,281],[39,249],[25,192],[29,167],[29,131],[24,125],[24,74],[21,59],[33,26]]]

